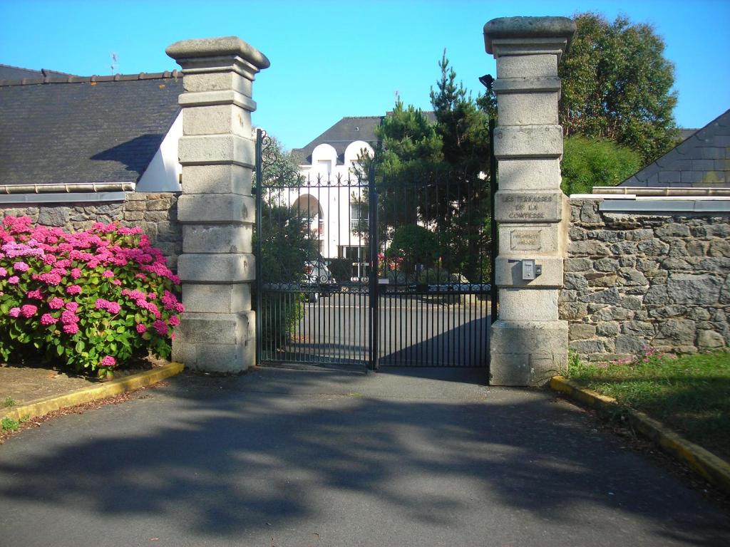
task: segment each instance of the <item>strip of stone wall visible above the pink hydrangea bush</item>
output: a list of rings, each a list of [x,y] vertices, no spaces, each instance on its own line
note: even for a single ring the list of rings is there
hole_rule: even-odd
[[[168,265],[177,269],[177,257],[183,252],[183,230],[177,222],[176,193],[126,194],[125,201],[107,203],[2,203],[0,221],[6,216],[28,216],[45,226],[66,230],[85,230],[94,222],[118,221],[124,226],[140,226],[154,247],[168,257]]]

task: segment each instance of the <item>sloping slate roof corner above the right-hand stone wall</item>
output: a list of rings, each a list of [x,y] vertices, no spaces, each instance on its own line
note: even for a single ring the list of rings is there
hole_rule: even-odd
[[[730,110],[619,186],[730,187]]]

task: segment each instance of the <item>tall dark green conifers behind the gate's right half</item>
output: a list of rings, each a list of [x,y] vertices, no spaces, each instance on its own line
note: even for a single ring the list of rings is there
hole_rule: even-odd
[[[375,174],[380,241],[393,239],[404,226],[426,226],[438,240],[438,268],[483,279],[490,206],[484,174],[489,165],[489,115],[496,103],[493,94],[472,98],[445,54],[439,69],[440,78],[431,89],[435,123],[419,109],[396,101],[376,129],[379,145],[374,158],[364,161],[364,171],[372,166]],[[423,254],[431,245],[426,239],[415,238],[410,255]]]

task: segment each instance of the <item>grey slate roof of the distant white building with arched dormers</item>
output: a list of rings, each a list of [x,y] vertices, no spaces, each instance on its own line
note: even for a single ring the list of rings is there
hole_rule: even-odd
[[[386,114],[389,115],[390,112]],[[423,112],[431,123],[436,121],[433,112]],[[291,154],[299,165],[312,163],[312,151],[320,144],[330,144],[337,151],[337,163],[345,163],[345,149],[354,141],[377,143],[375,128],[383,123],[385,116],[346,116],[332,125],[324,133],[302,148],[294,148]]]

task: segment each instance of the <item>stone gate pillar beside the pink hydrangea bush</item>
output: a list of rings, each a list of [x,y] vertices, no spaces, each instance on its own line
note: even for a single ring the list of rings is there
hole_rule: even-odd
[[[184,89],[177,268],[185,313],[172,358],[197,370],[244,371],[255,362],[251,88],[269,60],[236,36],[183,40],[166,53],[183,68]]]

